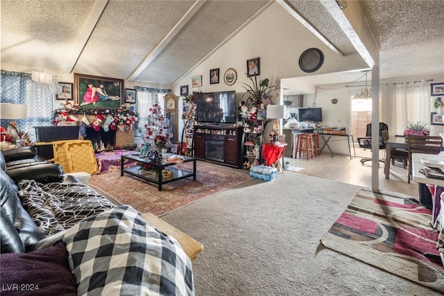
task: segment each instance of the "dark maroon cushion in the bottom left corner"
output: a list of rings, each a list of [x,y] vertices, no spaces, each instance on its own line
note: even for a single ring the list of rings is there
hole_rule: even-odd
[[[35,252],[0,254],[1,295],[77,295],[65,243]]]

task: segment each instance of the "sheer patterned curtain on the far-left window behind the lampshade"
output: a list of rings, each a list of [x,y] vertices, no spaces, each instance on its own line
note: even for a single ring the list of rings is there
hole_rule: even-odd
[[[15,122],[19,132],[27,132],[31,141],[36,141],[35,126],[53,125],[53,99],[55,93],[48,85],[33,82],[26,73],[1,71],[1,103],[28,105],[28,118]],[[9,119],[1,119],[6,128]]]

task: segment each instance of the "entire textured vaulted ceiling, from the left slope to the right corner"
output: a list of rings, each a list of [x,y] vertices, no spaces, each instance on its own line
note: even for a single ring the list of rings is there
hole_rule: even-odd
[[[333,0],[277,2],[342,54],[357,51],[326,8]],[[1,0],[1,62],[171,85],[271,3]],[[359,5],[380,49],[382,79],[443,73],[443,0]]]

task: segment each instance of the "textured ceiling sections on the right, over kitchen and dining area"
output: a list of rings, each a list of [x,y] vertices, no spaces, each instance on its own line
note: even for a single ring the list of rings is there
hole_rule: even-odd
[[[287,3],[343,54],[355,52],[321,1],[325,0],[289,0]],[[359,6],[379,48],[380,79],[444,76],[443,0],[359,0]],[[365,76],[357,70],[306,76],[300,80],[322,85],[364,81]]]

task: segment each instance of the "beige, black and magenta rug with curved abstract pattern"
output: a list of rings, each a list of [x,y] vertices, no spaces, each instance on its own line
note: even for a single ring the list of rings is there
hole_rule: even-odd
[[[430,226],[432,211],[418,200],[395,193],[361,189],[321,242],[336,252],[382,268],[444,293],[438,233]]]

